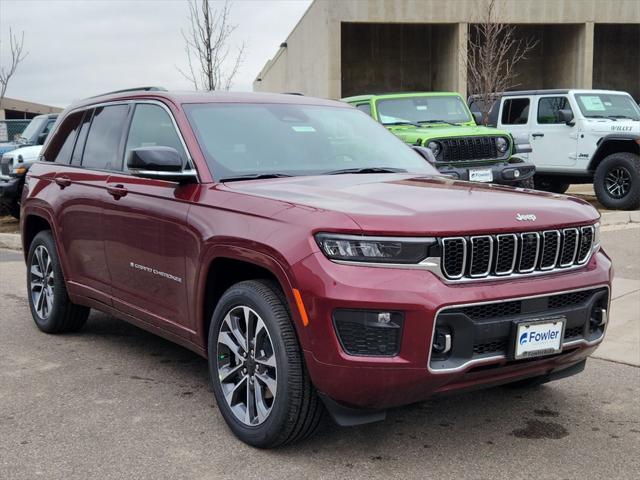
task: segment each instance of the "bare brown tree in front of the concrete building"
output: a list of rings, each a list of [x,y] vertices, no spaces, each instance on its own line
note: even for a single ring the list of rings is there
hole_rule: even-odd
[[[468,51],[462,59],[469,94],[476,95],[485,125],[494,100],[518,86],[515,66],[538,44],[534,38],[519,38],[515,25],[499,23],[499,9],[498,0],[477,1],[480,15],[469,29]]]

